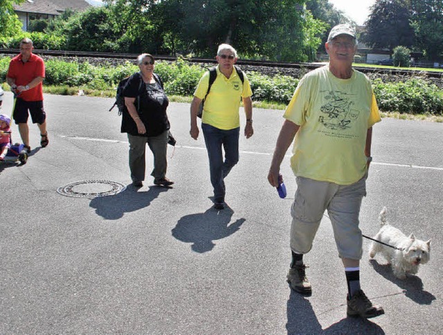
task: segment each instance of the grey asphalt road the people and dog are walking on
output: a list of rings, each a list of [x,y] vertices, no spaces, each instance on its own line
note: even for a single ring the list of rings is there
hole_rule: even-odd
[[[346,318],[345,275],[326,216],[305,257],[313,294],[293,293],[285,280],[296,191],[289,156],[282,164],[288,198],[266,180],[282,111],[254,110],[255,135],[240,141],[221,212],[209,198],[204,141],[188,135],[186,103],[169,109],[173,188],[154,187],[149,177],[141,189],[114,196],[57,193],[72,182],[86,182],[78,193],[107,190],[91,181],[131,182],[127,137],[116,111],[108,112],[113,102],[46,95],[49,146],[39,148],[31,126],[28,163],[0,166],[1,334],[441,333],[442,123],[374,126],[361,229],[374,235],[386,206],[392,225],[433,244],[431,261],[402,281],[382,259],[368,260],[363,241],[362,287],[386,314],[360,320]],[[3,112],[11,108],[8,92]]]

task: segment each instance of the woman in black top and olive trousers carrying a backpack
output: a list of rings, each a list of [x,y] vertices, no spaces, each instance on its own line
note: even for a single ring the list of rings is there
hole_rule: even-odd
[[[123,88],[126,109],[121,131],[127,132],[129,140],[129,169],[134,187],[142,187],[145,180],[146,144],[154,155],[151,173],[154,184],[164,187],[174,184],[166,178],[170,129],[166,108],[169,100],[159,76],[154,74],[154,62],[149,53],[138,55],[140,72],[130,76]]]

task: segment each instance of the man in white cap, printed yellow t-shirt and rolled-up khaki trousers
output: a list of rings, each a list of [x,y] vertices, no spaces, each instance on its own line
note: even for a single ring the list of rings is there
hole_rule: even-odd
[[[311,294],[303,255],[312,248],[327,209],[345,267],[347,315],[373,318],[384,313],[360,288],[361,200],[371,157],[372,126],[381,121],[369,79],[352,69],[354,29],[332,28],[325,44],[329,64],[304,76],[284,112],[268,180],[278,187],[280,164],[294,141],[291,168],[297,191],[291,207],[291,289]]]

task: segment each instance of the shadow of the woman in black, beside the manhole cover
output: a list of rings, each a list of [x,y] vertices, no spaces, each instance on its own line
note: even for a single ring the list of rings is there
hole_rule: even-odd
[[[124,191],[114,196],[93,198],[89,206],[96,209],[96,214],[107,220],[118,220],[127,212],[135,212],[150,205],[167,187],[150,186],[148,191],[140,191],[129,185]]]

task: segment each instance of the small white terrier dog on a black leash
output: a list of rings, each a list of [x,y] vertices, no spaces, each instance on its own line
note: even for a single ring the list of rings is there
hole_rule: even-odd
[[[431,256],[431,239],[422,241],[416,239],[414,234],[407,237],[400,230],[386,222],[386,207],[380,212],[379,221],[381,228],[374,239],[395,248],[372,242],[369,257],[374,258],[377,252],[391,264],[395,277],[405,279],[406,273],[415,275],[420,264],[426,264]],[[399,249],[399,250],[398,250]]]

